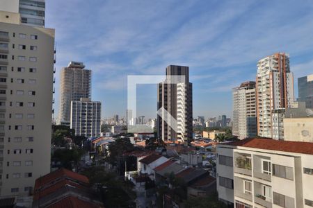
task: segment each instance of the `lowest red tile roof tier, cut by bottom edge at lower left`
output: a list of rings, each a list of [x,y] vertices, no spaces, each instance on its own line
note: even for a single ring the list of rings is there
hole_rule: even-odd
[[[87,201],[81,200],[74,196],[68,196],[67,198],[63,198],[62,200],[59,200],[53,205],[49,205],[47,207],[48,208],[81,208],[81,207],[98,208],[98,207],[103,207],[103,206],[97,205],[93,202],[87,202]]]

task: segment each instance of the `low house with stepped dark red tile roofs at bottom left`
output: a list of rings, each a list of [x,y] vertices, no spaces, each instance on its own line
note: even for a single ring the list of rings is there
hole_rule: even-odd
[[[104,207],[86,176],[61,168],[35,180],[33,207]]]

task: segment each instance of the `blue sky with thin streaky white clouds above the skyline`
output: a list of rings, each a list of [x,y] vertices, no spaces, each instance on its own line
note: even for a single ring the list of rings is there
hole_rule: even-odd
[[[163,75],[189,66],[193,116],[232,114],[232,87],[255,80],[257,60],[290,54],[297,78],[313,73],[313,1],[53,0],[59,71],[70,60],[93,70],[92,96],[102,116],[125,116],[127,75]],[[157,88],[138,88],[138,114],[156,117]],[[297,93],[296,93],[297,95]],[[57,114],[56,114],[57,115]]]

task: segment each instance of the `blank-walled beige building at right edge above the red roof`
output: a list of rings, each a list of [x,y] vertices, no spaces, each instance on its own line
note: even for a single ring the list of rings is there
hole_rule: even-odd
[[[284,118],[284,140],[313,142],[313,117]]]

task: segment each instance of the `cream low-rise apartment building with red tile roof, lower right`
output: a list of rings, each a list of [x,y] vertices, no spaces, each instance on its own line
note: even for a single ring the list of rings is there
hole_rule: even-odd
[[[218,198],[228,205],[313,206],[313,143],[244,139],[216,150]]]

